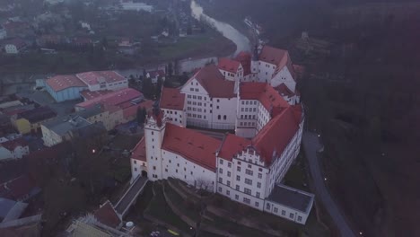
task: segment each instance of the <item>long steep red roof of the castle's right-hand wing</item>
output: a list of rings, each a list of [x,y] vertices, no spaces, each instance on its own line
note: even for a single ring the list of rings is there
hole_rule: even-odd
[[[299,123],[291,107],[283,110],[263,127],[258,135],[252,139],[252,145],[257,149],[261,158],[269,165],[273,154],[283,153],[284,148],[292,141],[299,129]]]

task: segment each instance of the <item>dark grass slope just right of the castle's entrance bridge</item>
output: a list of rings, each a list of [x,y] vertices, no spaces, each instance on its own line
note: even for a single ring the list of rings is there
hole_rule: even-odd
[[[144,212],[166,224],[171,224],[172,226],[179,228],[179,230],[188,233],[188,224],[184,223],[178,215],[175,215],[172,212],[171,207],[166,203],[165,198],[163,197],[162,184],[157,182],[153,183],[153,189],[155,195]]]

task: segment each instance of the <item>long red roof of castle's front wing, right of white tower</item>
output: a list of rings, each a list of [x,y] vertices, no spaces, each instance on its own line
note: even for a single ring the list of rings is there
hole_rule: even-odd
[[[215,152],[221,141],[194,130],[166,124],[162,149],[182,155],[190,162],[215,171]]]

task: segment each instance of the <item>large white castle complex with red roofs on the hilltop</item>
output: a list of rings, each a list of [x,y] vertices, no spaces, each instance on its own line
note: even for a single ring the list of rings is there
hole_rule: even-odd
[[[132,151],[133,180],[175,178],[305,224],[314,196],[281,184],[300,152],[304,113],[286,50],[221,58],[179,89],[163,88]],[[234,130],[223,140],[186,128]]]

